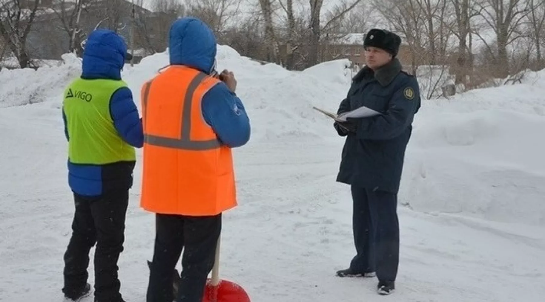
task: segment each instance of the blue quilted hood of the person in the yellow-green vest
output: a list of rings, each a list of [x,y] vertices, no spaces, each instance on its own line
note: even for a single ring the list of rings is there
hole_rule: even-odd
[[[85,44],[82,77],[121,79],[126,53],[127,46],[122,37],[111,30],[95,30]]]

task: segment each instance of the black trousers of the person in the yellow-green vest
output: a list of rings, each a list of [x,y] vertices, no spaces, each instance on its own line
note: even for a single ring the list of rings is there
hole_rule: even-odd
[[[121,301],[117,261],[123,251],[129,192],[109,191],[99,197],[74,194],[74,200],[72,237],[64,254],[63,292],[78,292],[87,284],[89,251],[96,243],[95,301]]]

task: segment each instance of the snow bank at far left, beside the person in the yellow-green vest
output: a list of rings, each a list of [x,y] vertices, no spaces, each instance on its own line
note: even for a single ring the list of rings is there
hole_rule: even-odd
[[[81,61],[74,54],[63,55],[64,64],[0,70],[0,108],[44,102],[57,97],[69,81],[81,74]]]

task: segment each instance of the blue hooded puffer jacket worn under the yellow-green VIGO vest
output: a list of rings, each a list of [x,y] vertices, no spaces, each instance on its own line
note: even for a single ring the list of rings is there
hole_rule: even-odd
[[[95,30],[87,39],[81,78],[120,80],[126,53],[127,47],[122,37],[111,30]],[[119,136],[131,146],[142,147],[142,122],[128,88],[113,93],[110,114]],[[70,140],[64,110],[63,119],[66,139]],[[72,191],[84,196],[99,196],[110,188],[128,189],[132,185],[133,167],[134,162],[76,165],[69,161],[69,184]]]

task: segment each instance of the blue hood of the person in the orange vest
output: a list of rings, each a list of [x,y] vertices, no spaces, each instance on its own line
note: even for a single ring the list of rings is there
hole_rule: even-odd
[[[216,38],[212,30],[194,17],[178,19],[168,36],[170,64],[186,65],[210,73],[216,59]]]

